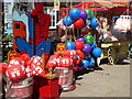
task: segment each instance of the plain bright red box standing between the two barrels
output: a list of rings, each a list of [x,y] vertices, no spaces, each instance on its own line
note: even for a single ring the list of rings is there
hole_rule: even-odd
[[[59,97],[58,78],[47,79],[44,77],[34,77],[33,98],[38,97]]]

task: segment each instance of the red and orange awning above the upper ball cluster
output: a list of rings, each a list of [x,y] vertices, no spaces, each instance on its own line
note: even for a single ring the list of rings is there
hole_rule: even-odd
[[[80,2],[79,4],[73,6],[70,8],[63,8],[63,16],[66,15],[66,9],[68,11],[72,8],[78,8],[79,10],[82,9],[90,9],[92,12],[102,12],[107,10],[112,10],[112,11],[121,11],[124,12],[130,4],[129,0],[123,0],[122,2],[120,0],[111,0],[111,1],[106,1],[106,0],[95,0],[96,2]],[[95,9],[96,8],[96,9]]]

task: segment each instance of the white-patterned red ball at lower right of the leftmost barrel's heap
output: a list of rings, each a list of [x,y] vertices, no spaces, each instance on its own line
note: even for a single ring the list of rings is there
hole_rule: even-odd
[[[31,69],[33,70],[34,76],[45,77],[45,72],[40,65],[32,63],[31,64]]]

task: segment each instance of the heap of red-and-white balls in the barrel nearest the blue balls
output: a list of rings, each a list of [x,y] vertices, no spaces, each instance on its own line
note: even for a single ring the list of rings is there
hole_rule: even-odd
[[[70,67],[74,66],[74,70],[77,70],[77,65],[84,58],[84,53],[79,50],[67,50],[63,54],[55,53],[51,55],[46,68],[54,67]]]

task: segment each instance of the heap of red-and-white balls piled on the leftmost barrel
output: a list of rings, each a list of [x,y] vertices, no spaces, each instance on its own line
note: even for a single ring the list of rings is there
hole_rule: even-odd
[[[28,54],[22,54],[20,57],[12,58],[9,64],[0,63],[0,73],[10,79],[21,79],[33,76],[45,77],[45,72],[41,67],[41,64],[42,58],[40,56],[32,56],[30,58]]]

